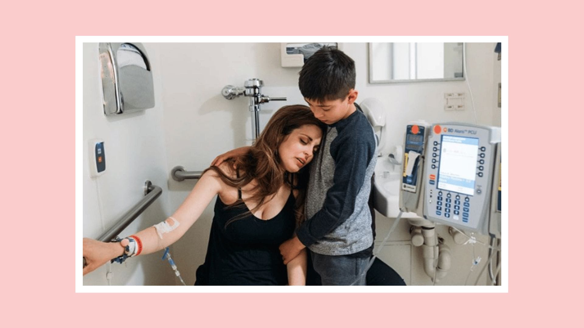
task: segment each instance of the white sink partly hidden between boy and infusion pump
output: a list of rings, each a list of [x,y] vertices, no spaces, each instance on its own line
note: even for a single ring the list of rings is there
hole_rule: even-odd
[[[373,207],[388,218],[399,214],[399,191],[401,166],[393,165],[387,157],[378,158],[373,180]],[[417,217],[415,213],[404,213],[404,218]]]

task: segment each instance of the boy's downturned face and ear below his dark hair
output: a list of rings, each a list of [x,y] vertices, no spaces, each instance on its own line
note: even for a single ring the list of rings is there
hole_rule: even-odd
[[[314,117],[318,118],[325,124],[334,124],[340,120],[344,120],[353,114],[355,107],[353,106],[355,100],[357,99],[357,90],[350,89],[349,94],[345,99],[335,99],[335,100],[324,100],[319,102],[318,100],[306,99],[304,100],[308,103],[310,110]]]

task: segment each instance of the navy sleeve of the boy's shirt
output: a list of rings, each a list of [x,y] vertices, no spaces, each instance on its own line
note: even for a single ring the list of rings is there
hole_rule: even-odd
[[[335,161],[333,185],[327,191],[323,207],[305,221],[296,232],[305,246],[310,246],[346,221],[354,211],[355,201],[363,186],[367,165],[373,158],[375,142],[366,138],[337,137],[331,144]],[[338,142],[339,141],[339,142]]]

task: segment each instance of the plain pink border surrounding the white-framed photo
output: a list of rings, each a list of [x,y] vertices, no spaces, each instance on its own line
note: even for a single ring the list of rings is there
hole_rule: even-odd
[[[169,6],[160,8],[162,4]],[[0,52],[4,78],[0,83],[6,93],[0,142],[6,155],[1,161],[2,176],[11,192],[4,219],[5,224],[19,224],[18,229],[10,228],[3,234],[4,274],[15,273],[5,280],[3,292],[3,299],[10,303],[3,312],[11,326],[105,326],[127,320],[131,326],[159,327],[486,327],[506,326],[513,319],[537,326],[564,326],[575,320],[579,302],[569,301],[569,294],[580,284],[564,287],[563,281],[580,278],[562,272],[562,268],[575,273],[579,259],[552,250],[553,240],[545,245],[540,239],[548,220],[546,212],[554,212],[545,211],[545,205],[534,207],[541,204],[541,196],[527,196],[524,190],[530,188],[524,186],[541,183],[538,173],[543,162],[532,160],[531,165],[524,165],[520,159],[533,159],[534,149],[519,145],[529,141],[531,128],[549,131],[547,126],[573,108],[574,104],[565,103],[565,97],[548,101],[537,93],[569,95],[576,92],[572,86],[581,85],[581,64],[573,77],[557,75],[561,79],[544,81],[541,74],[544,70],[548,74],[567,72],[553,56],[562,58],[560,62],[577,60],[564,34],[574,29],[571,22],[580,21],[571,17],[579,11],[564,8],[564,13],[544,22],[537,18],[549,18],[555,9],[514,8],[499,1],[415,2],[413,9],[402,4],[349,1],[283,2],[296,8],[273,1],[238,4],[114,1],[108,5],[5,5]],[[119,9],[128,20],[114,21],[105,8]],[[420,9],[423,12],[418,12]],[[154,21],[142,23],[131,17]],[[251,17],[258,17],[260,23],[251,22]],[[281,26],[284,21],[296,23]],[[260,29],[253,34],[264,35],[509,36],[509,126],[515,128],[509,129],[513,140],[509,144],[509,200],[513,205],[509,208],[508,294],[75,294],[75,35],[237,35],[254,32],[256,26]],[[568,42],[567,48],[559,46],[564,42]],[[545,88],[541,85],[544,82]],[[547,111],[540,114],[540,110]],[[544,138],[541,142],[536,153],[553,155],[551,141]],[[538,186],[542,191],[556,190]],[[551,194],[550,204],[568,204],[566,200],[554,202],[557,193]],[[27,229],[30,225],[35,228]],[[22,229],[27,231],[25,238],[19,233]],[[569,241],[562,243],[564,249],[576,247]]]

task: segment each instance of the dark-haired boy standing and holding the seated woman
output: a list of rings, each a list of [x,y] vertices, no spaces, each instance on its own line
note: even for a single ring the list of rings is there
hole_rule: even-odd
[[[310,168],[307,220],[280,252],[287,263],[308,247],[323,285],[364,285],[361,274],[373,250],[367,201],[377,157],[371,125],[355,103],[354,61],[322,48],[305,62],[298,86],[314,116],[329,127]]]

